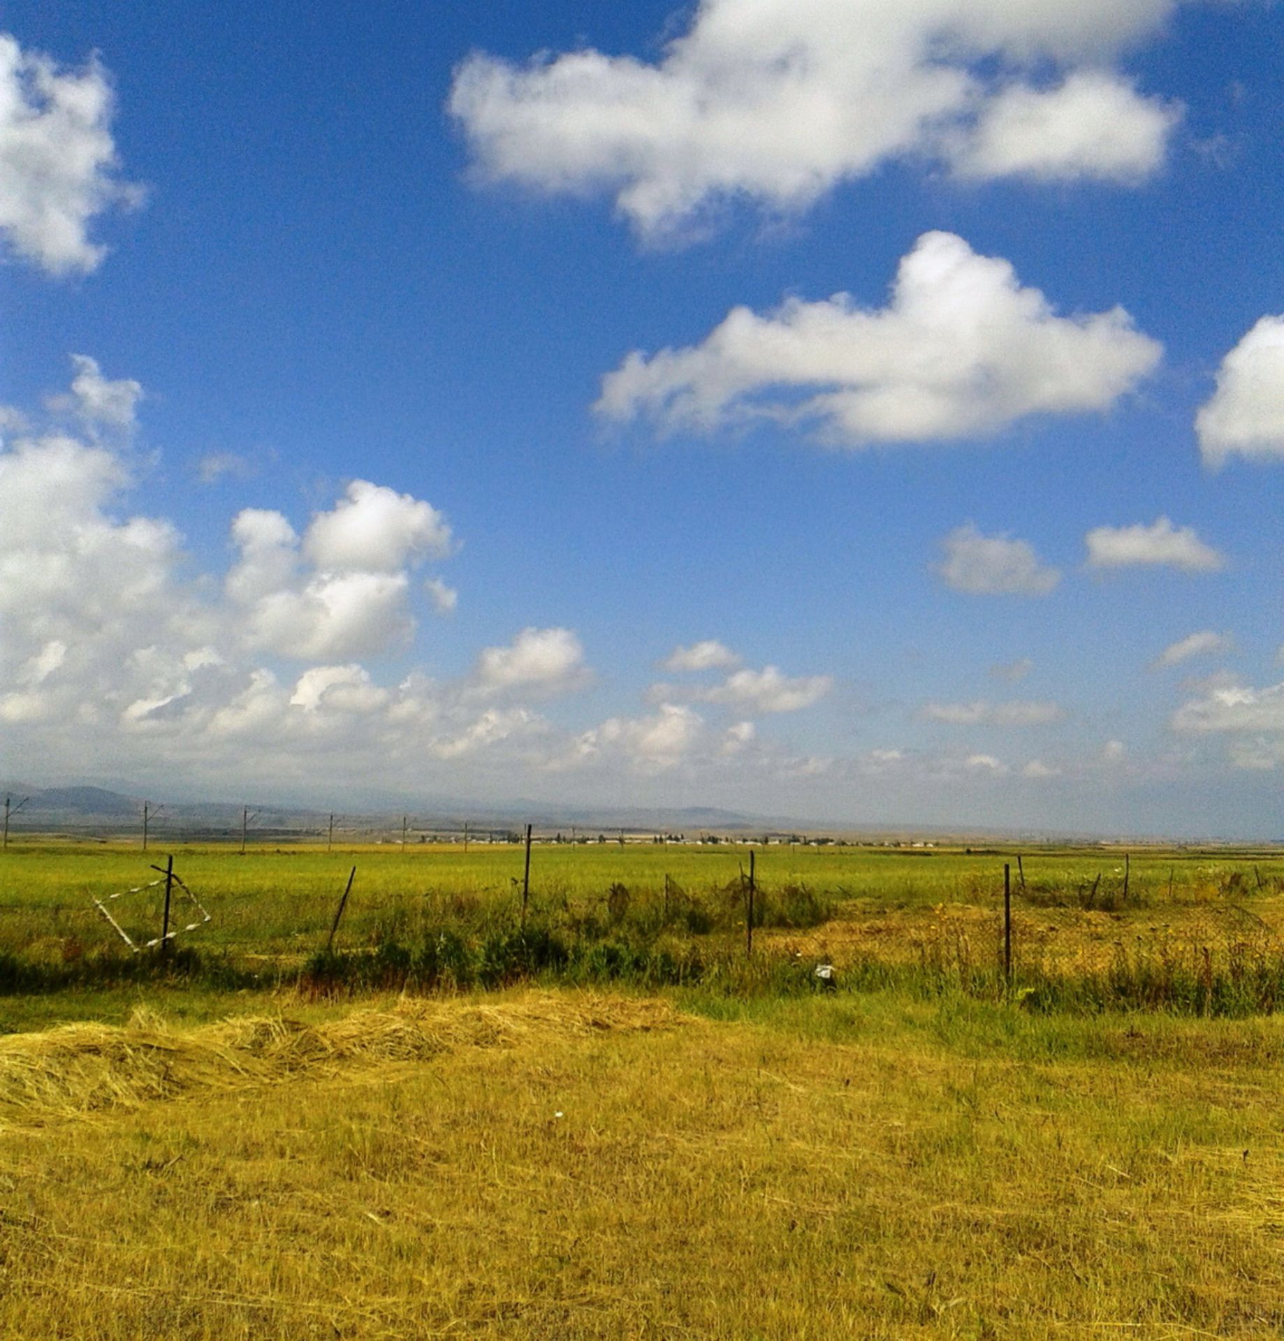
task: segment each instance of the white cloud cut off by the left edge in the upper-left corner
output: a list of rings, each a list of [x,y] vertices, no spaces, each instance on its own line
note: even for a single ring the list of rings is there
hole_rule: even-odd
[[[52,275],[97,268],[90,221],[140,198],[115,176],[111,111],[97,60],[63,70],[0,34],[0,233]]]

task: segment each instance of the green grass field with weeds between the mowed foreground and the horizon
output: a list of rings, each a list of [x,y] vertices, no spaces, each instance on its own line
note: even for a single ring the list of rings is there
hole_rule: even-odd
[[[184,890],[168,956],[162,888]],[[1273,852],[1041,848],[1021,854],[839,846],[538,843],[523,919],[519,845],[189,846],[15,843],[0,858],[0,1027],[32,999],[98,1015],[103,992],[185,979],[195,991],[314,986],[463,987],[523,979],[640,986],[720,980],[733,994],[844,983],[1000,994],[1084,988],[1089,1007],[1273,1010],[1284,994],[1284,860]],[[1002,980],[1002,872],[1012,866],[1013,978]],[[339,896],[356,880],[334,940]],[[753,869],[754,957],[746,945]],[[118,894],[136,885],[138,893]],[[319,956],[319,957],[318,957]],[[1051,987],[1049,987],[1051,984]],[[1060,984],[1060,986],[1057,986]],[[173,988],[173,982],[169,983]],[[74,990],[74,991],[72,991]],[[5,1011],[8,1002],[11,1010]],[[21,1003],[21,1004],[19,1004]],[[44,1008],[44,1007],[39,1007]],[[118,1012],[119,1014],[119,1012]],[[64,1018],[64,1016],[51,1016]]]

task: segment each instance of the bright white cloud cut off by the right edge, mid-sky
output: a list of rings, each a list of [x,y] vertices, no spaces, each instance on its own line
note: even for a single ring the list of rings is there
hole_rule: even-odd
[[[1284,316],[1263,316],[1222,359],[1217,390],[1195,416],[1195,433],[1214,469],[1229,456],[1284,457]]]

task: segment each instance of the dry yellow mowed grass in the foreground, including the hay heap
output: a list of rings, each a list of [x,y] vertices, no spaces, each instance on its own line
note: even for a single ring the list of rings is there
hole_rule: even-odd
[[[1275,1021],[754,1010],[7,1039],[0,1336],[1280,1334]]]

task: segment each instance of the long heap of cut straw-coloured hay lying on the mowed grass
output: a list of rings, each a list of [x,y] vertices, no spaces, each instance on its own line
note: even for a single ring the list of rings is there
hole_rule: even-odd
[[[43,1125],[200,1090],[325,1075],[352,1063],[427,1061],[466,1047],[514,1047],[554,1037],[671,1029],[663,1000],[529,994],[471,1004],[403,999],[306,1025],[243,1016],[170,1029],[148,1010],[123,1027],[66,1025],[0,1037],[0,1128]]]

